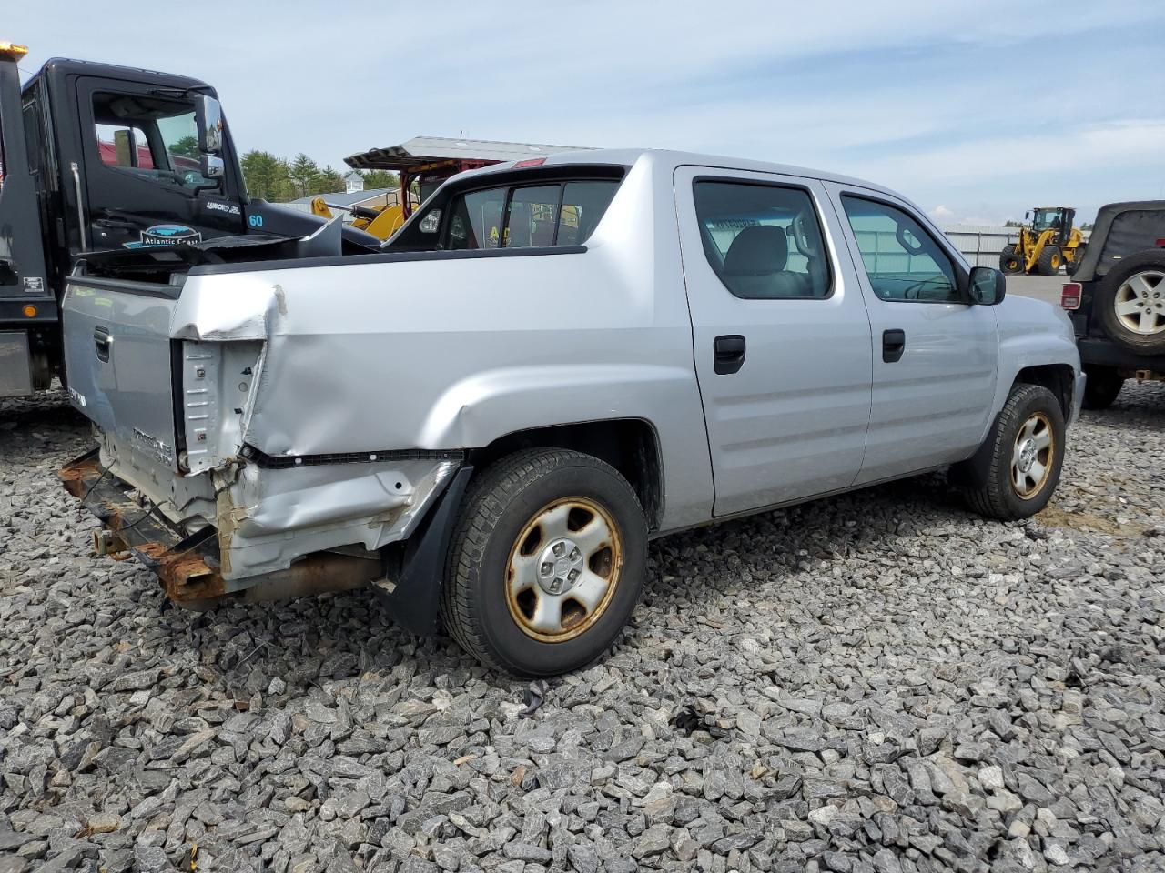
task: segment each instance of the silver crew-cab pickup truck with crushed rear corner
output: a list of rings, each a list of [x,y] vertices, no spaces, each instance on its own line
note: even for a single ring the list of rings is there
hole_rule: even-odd
[[[524,675],[609,647],[652,537],[941,468],[1037,512],[1083,390],[1062,312],[790,166],[563,154],[454,177],[381,254],[232,251],[70,281],[98,551],[193,608],[370,585]]]

